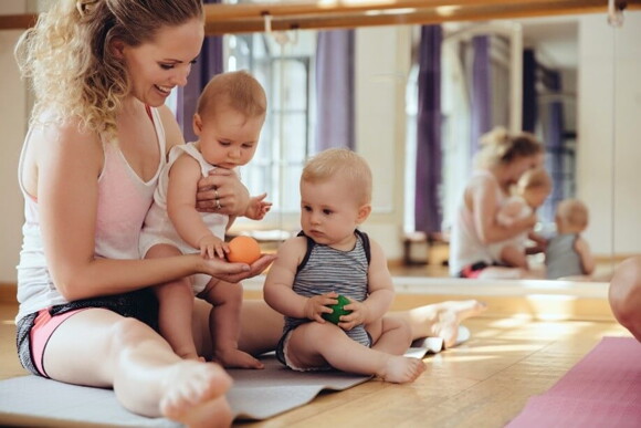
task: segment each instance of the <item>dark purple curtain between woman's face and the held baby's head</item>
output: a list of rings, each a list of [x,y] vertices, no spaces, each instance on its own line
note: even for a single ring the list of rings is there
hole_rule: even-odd
[[[220,3],[221,0],[204,0],[204,3]],[[204,38],[202,50],[196,64],[191,66],[191,73],[185,87],[178,88],[178,103],[176,118],[182,129],[186,142],[196,140],[191,119],[196,113],[196,103],[207,82],[224,71],[222,50],[222,35],[209,35]]]

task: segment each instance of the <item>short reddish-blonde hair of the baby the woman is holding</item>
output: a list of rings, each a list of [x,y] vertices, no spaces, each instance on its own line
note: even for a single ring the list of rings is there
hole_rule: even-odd
[[[228,106],[245,117],[264,116],[267,109],[265,90],[244,70],[213,76],[198,98],[196,113],[214,115],[220,106]]]

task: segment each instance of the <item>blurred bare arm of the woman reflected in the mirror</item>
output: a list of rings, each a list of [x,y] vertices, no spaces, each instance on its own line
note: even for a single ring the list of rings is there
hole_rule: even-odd
[[[497,185],[494,180],[479,180],[465,189],[465,202],[472,211],[474,228],[481,242],[501,242],[530,229],[536,225],[536,215],[502,226],[496,219],[498,201]]]

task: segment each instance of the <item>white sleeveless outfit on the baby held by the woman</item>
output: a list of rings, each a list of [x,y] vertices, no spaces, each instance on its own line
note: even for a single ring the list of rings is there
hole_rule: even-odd
[[[210,165],[204,160],[195,143],[187,143],[171,148],[169,152],[169,159],[160,173],[158,187],[154,192],[154,203],[151,203],[151,208],[149,208],[149,212],[145,219],[145,226],[143,227],[143,232],[140,233],[139,247],[141,257],[145,257],[151,247],[159,243],[171,244],[178,248],[183,254],[200,252],[200,249],[191,247],[180,238],[167,215],[167,186],[169,184],[169,171],[176,159],[183,154],[191,156],[198,161],[203,177],[207,177],[210,170],[216,169],[216,166]],[[217,212],[200,212],[200,217],[216,237],[224,239],[229,216]],[[204,290],[206,285],[211,280],[211,276],[204,273],[198,273],[191,275],[190,280],[193,293],[198,294]]]

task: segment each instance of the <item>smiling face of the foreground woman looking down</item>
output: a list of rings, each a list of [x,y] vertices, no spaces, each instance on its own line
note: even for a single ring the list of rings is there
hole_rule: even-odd
[[[119,52],[127,64],[132,95],[153,107],[165,104],[171,90],[187,84],[203,38],[202,20],[193,19],[161,28],[153,41],[139,46],[123,45]]]

